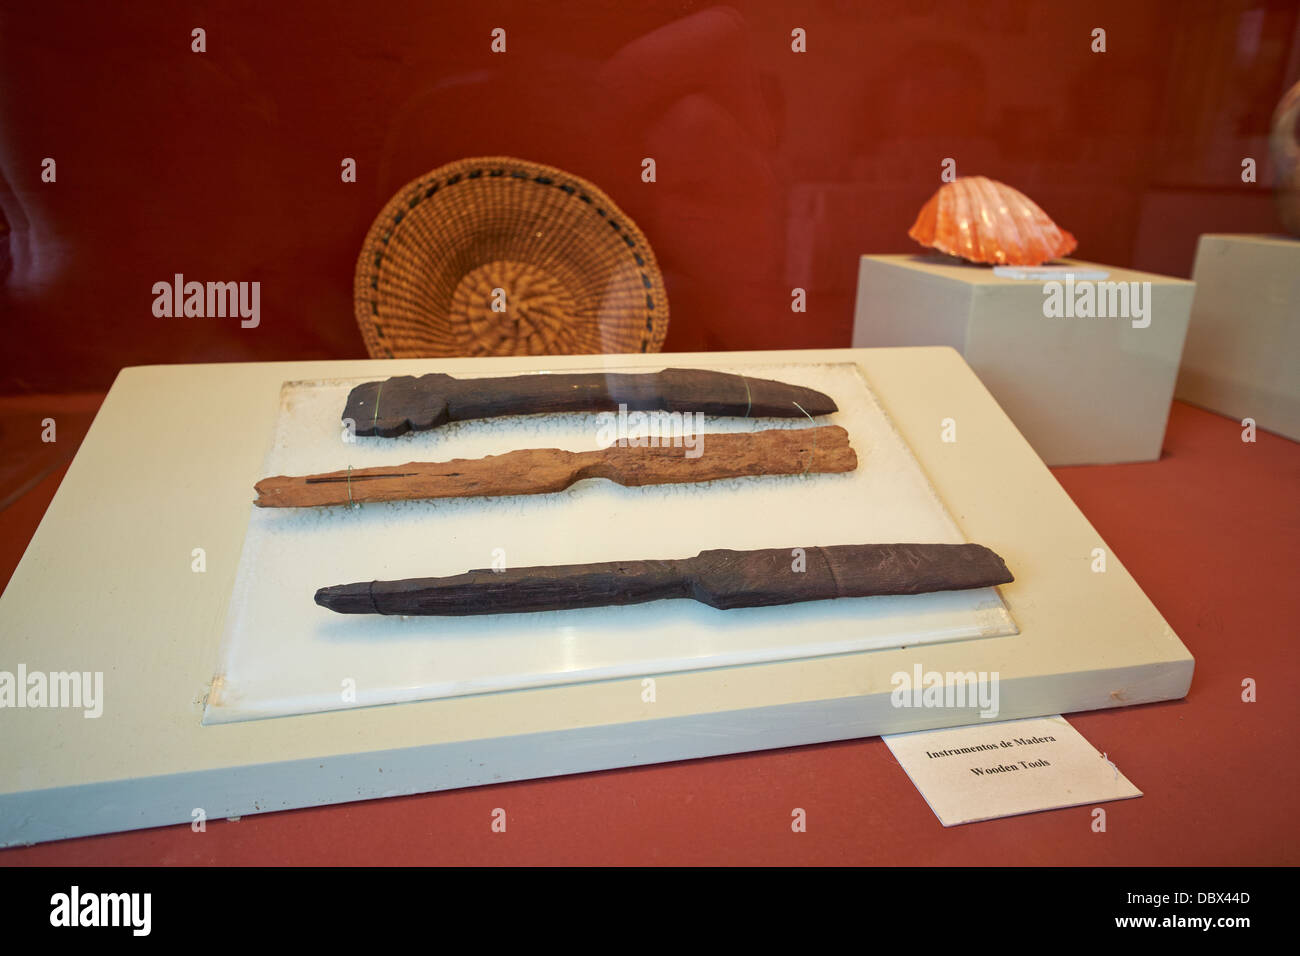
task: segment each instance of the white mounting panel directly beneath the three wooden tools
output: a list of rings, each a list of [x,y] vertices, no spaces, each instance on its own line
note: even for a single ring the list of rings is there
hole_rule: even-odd
[[[728,611],[680,600],[463,618],[341,615],[312,601],[328,584],[454,575],[490,567],[494,557],[530,567],[682,558],[712,548],[963,541],[857,365],[748,365],[744,373],[832,395],[838,411],[818,424],[848,429],[858,468],[640,488],[590,479],[559,494],[356,510],[250,505],[204,723],[1015,632],[996,588]],[[599,447],[598,415],[464,421],[344,444],[339,418],[363,381],[286,385],[264,473]],[[712,418],[703,441],[707,433],[811,424]]]

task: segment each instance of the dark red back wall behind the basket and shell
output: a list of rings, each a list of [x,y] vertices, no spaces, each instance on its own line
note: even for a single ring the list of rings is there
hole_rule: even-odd
[[[1300,79],[1297,5],[1065,7],[34,0],[0,13],[0,392],[364,355],[361,237],[463,156],[610,193],[659,256],[668,350],[848,345],[857,256],[913,248],[945,156],[1028,193],[1086,259],[1186,276],[1200,233],[1277,230],[1266,134]],[[261,325],[155,317],[177,272],[260,281]]]

